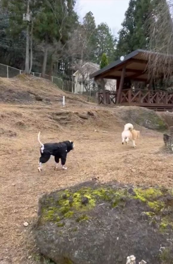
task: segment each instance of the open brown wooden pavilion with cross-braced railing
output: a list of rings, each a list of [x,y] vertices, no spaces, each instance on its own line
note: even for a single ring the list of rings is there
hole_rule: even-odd
[[[131,88],[131,81],[142,81],[146,87],[147,84],[151,85],[152,78],[149,77],[146,69],[148,64],[146,53],[149,52],[135,50],[126,55],[123,60],[114,61],[90,75],[90,78],[94,78],[95,81],[100,80],[102,84],[104,79],[117,80],[116,92],[98,93],[98,104],[106,102],[106,104],[143,106],[157,111],[173,112],[173,92]],[[154,53],[150,53],[151,58],[154,55]],[[173,56],[171,58],[173,61]]]

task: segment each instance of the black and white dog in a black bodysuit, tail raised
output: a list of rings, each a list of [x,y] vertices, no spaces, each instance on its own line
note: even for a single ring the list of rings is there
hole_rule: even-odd
[[[55,163],[56,163],[56,168],[59,166],[59,159],[61,159],[61,165],[62,169],[67,169],[64,165],[66,162],[67,158],[67,153],[70,152],[74,148],[73,141],[63,141],[59,143],[41,143],[40,141],[40,132],[38,133],[38,142],[41,145],[40,148],[40,154],[41,157],[38,162],[38,171],[41,171],[41,165],[42,163],[46,163],[49,159],[50,156],[55,157]]]

